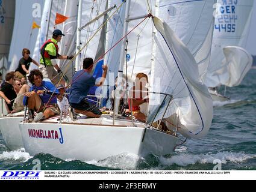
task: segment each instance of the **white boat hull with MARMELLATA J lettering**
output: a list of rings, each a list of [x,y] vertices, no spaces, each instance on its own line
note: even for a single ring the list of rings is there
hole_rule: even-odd
[[[103,160],[128,152],[140,156],[172,154],[178,137],[142,127],[20,123],[26,152],[62,159]]]

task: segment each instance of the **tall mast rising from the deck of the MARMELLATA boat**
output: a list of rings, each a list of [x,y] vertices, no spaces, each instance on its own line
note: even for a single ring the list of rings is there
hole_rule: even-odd
[[[126,0],[126,7],[125,7],[125,22],[123,26],[123,37],[127,34],[128,31],[128,18],[130,14],[130,6],[131,6],[131,0]],[[122,78],[123,78],[123,65],[125,63],[125,47],[126,47],[126,38],[122,41],[122,47],[121,47],[121,54],[120,54],[120,64],[119,64],[119,71],[117,75],[117,88],[115,93],[115,99],[114,99],[114,118],[116,113],[118,114],[118,108],[119,108],[119,101],[120,101],[120,95],[122,91]],[[114,124],[114,118],[113,118],[113,124]]]

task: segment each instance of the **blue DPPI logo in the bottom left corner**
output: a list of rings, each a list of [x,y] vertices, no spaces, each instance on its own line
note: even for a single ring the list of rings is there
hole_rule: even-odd
[[[39,171],[5,171],[1,179],[39,179]]]

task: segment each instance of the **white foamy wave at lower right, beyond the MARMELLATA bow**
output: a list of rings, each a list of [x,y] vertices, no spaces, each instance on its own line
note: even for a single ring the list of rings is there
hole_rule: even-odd
[[[244,154],[234,152],[219,152],[217,154],[206,154],[206,155],[192,155],[192,154],[180,154],[174,155],[170,158],[161,157],[160,164],[164,166],[171,166],[176,164],[178,166],[186,167],[190,164],[215,164],[220,161],[222,164],[228,162],[242,163],[248,159],[256,158],[255,154]]]

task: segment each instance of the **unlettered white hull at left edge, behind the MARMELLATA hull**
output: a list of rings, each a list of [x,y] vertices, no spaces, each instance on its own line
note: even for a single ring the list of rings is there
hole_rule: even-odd
[[[23,117],[0,118],[0,130],[6,146],[11,150],[23,148],[22,136],[19,130],[19,123]]]

